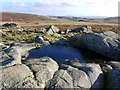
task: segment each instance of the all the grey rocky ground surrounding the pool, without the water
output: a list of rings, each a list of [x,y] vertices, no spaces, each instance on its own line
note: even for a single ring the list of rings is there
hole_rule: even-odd
[[[94,33],[89,26],[64,32],[60,32],[55,26],[41,30],[45,30],[42,33],[47,35],[35,37],[32,43],[1,43],[1,88],[120,88],[120,35],[118,33],[112,31]],[[89,49],[108,57],[108,60],[97,64],[80,63],[79,60],[60,64],[48,56],[27,57],[29,51],[45,45]]]

